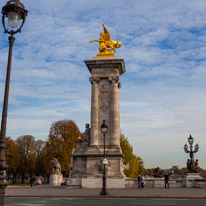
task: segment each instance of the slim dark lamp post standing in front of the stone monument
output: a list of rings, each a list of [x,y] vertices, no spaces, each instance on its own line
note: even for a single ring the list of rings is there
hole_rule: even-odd
[[[100,195],[108,195],[107,191],[107,185],[106,185],[106,165],[108,164],[108,161],[106,159],[106,154],[105,154],[105,134],[108,131],[108,126],[106,125],[105,120],[103,120],[103,123],[101,125],[101,132],[104,135],[104,160],[103,160],[103,178],[102,178],[102,190],[100,192]]]

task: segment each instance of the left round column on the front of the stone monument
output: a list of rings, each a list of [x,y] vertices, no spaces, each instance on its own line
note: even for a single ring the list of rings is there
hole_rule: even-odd
[[[90,145],[91,147],[97,147],[99,131],[99,79],[90,77],[89,80],[92,83]]]

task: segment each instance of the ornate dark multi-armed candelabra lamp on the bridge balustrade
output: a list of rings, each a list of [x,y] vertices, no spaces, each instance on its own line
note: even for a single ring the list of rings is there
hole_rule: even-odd
[[[196,144],[193,150],[193,142],[194,142],[194,139],[190,135],[188,138],[190,149],[188,149],[187,144],[184,145],[185,152],[190,154],[190,159],[187,160],[187,170],[189,173],[198,173],[199,172],[198,159],[194,160],[194,153],[198,152],[199,145]]]

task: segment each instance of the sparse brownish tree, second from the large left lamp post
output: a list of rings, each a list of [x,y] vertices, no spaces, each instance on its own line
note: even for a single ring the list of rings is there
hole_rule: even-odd
[[[36,151],[35,139],[31,135],[20,136],[16,140],[18,146],[18,170],[24,183],[25,174],[32,175],[35,172]]]

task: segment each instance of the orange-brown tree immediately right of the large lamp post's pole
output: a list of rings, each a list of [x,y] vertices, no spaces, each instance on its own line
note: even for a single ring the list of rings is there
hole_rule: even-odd
[[[6,169],[7,175],[13,175],[13,182],[16,182],[18,173],[18,146],[10,137],[6,137]]]

